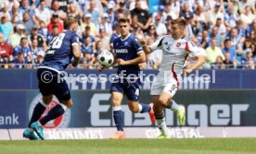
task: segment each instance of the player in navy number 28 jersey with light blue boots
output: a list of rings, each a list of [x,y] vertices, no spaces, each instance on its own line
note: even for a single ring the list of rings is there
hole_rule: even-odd
[[[72,106],[70,89],[62,78],[61,71],[64,71],[70,64],[72,66],[78,65],[81,56],[79,38],[76,33],[78,29],[77,19],[67,18],[64,21],[64,28],[65,30],[50,42],[45,52],[44,62],[37,70],[38,84],[43,101],[38,102],[35,106],[28,128],[23,132],[24,137],[32,140],[37,140],[39,137],[45,139],[43,125],[58,118]],[[71,61],[71,59],[73,60]],[[60,103],[40,119],[46,107],[52,101],[53,95],[58,98]]]

